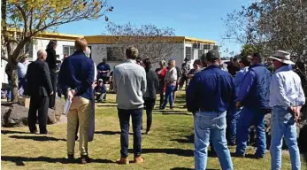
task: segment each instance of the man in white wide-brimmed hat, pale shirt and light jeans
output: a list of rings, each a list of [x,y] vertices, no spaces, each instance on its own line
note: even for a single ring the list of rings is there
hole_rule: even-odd
[[[272,169],[281,169],[282,138],[285,137],[290,153],[292,169],[301,169],[300,151],[296,141],[295,122],[300,118],[300,110],[305,103],[300,77],[289,65],[294,65],[287,51],[278,50],[272,57],[276,69],[270,86],[270,106],[272,106]]]

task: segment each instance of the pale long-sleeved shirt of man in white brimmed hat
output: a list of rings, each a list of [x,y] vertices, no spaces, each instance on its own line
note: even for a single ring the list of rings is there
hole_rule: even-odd
[[[305,97],[303,94],[301,78],[291,70],[289,66],[281,66],[272,75],[270,85],[270,106],[303,105]]]

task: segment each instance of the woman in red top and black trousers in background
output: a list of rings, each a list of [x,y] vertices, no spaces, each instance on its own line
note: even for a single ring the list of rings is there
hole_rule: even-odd
[[[165,74],[167,69],[165,67],[165,60],[159,62],[160,68],[157,68],[156,73],[159,81],[158,92],[160,93],[160,104],[159,108],[162,109],[162,105],[165,99]]]

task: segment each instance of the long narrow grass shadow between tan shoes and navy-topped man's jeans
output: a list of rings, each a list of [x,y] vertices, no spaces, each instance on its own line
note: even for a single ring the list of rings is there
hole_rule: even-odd
[[[129,153],[133,153],[132,149],[128,150]],[[142,149],[142,153],[165,153],[171,155],[178,155],[182,157],[194,157],[194,151],[192,150],[181,150],[181,149],[173,149],[173,148],[165,148],[165,149]]]

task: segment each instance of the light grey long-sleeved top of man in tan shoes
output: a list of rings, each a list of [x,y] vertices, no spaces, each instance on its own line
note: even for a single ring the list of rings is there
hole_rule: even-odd
[[[147,86],[146,73],[142,66],[136,65],[135,60],[127,59],[126,62],[115,66],[113,85],[119,109],[131,110],[143,107],[142,96]]]

